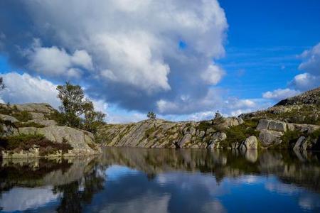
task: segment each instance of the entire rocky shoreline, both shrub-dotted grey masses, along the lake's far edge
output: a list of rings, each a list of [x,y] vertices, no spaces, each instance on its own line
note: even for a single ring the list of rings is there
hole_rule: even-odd
[[[94,155],[100,146],[320,150],[320,87],[238,117],[104,124],[95,136],[59,126],[55,112],[48,104],[0,104],[2,158]]]

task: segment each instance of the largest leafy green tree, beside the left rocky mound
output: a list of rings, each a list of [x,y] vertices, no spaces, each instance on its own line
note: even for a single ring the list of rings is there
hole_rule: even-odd
[[[61,123],[96,133],[98,127],[104,124],[105,114],[95,111],[92,102],[85,99],[83,89],[79,85],[65,82],[65,85],[59,85],[57,90],[62,104],[59,107],[63,117]]]

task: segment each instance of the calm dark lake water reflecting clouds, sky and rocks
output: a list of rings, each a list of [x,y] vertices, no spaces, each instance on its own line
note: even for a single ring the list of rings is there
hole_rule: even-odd
[[[106,148],[3,160],[1,212],[320,212],[320,154]]]

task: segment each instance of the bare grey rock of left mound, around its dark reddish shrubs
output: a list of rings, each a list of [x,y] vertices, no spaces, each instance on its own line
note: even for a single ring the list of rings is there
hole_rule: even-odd
[[[72,149],[68,153],[58,151],[50,156],[92,155],[101,153],[92,133],[68,126],[58,126],[50,119],[55,109],[48,104],[0,104],[1,136],[43,135],[55,143],[68,143]],[[28,151],[2,151],[3,158],[38,157],[39,147]]]

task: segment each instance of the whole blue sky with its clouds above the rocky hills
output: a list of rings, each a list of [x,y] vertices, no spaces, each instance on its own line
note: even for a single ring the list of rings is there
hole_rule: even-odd
[[[0,1],[1,102],[80,84],[109,123],[211,119],[320,86],[320,1]]]

